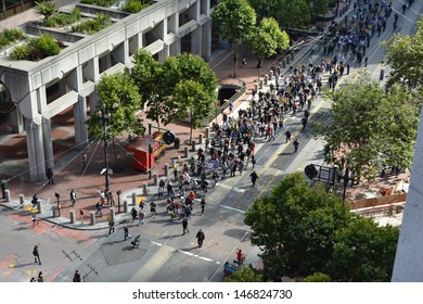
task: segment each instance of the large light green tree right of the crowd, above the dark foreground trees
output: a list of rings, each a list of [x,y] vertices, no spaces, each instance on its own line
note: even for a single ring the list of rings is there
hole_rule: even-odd
[[[386,93],[377,83],[363,79],[329,92],[333,100],[328,123],[317,123],[316,135],[326,141],[326,162],[344,165],[360,182],[373,178],[381,162],[409,167],[419,122],[416,97],[396,88]],[[406,129],[407,127],[407,129]]]

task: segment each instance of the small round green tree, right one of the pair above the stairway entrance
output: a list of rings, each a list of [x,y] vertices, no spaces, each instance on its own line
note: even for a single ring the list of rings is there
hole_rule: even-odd
[[[286,50],[290,47],[290,36],[281,30],[274,18],[269,17],[261,20],[259,26],[251,33],[248,43],[252,52],[261,62],[278,51]],[[258,65],[258,80],[260,80],[260,67]]]

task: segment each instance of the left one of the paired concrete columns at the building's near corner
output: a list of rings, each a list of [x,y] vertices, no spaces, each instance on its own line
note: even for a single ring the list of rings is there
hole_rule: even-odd
[[[28,118],[25,121],[25,129],[30,180],[43,181],[46,179],[46,159],[41,126]]]

